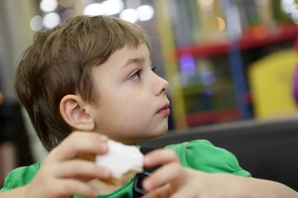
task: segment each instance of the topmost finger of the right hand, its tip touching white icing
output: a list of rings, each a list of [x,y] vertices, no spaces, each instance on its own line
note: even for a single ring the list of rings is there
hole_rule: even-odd
[[[157,165],[163,165],[170,162],[180,163],[180,159],[177,153],[171,149],[158,149],[149,152],[145,156],[144,165],[146,167],[154,167]]]

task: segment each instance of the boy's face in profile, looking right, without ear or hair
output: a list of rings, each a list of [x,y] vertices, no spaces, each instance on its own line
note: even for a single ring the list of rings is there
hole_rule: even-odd
[[[96,132],[132,145],[167,131],[168,113],[157,112],[169,104],[168,82],[152,72],[145,44],[114,52],[93,75],[99,90],[91,113]]]

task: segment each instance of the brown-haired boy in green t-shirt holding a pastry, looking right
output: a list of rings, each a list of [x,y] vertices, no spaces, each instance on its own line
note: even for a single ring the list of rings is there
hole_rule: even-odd
[[[37,33],[20,59],[15,90],[50,153],[12,171],[0,198],[100,194],[84,181],[110,171],[75,156],[106,153],[108,138],[137,145],[167,131],[168,83],[151,69],[146,36],[120,19],[79,16]],[[231,153],[208,141],[167,148],[145,158],[147,167],[163,165],[143,183],[148,197],[298,197],[282,184],[250,178]],[[98,198],[131,198],[133,181]]]

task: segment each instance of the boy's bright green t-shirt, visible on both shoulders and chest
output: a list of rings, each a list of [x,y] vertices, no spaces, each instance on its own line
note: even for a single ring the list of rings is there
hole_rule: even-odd
[[[209,141],[196,140],[177,145],[170,145],[166,148],[177,152],[181,163],[185,167],[205,171],[208,173],[229,173],[233,175],[250,177],[250,173],[243,170],[236,157],[223,148],[213,146]],[[37,173],[41,163],[31,166],[20,167],[11,171],[4,182],[0,192],[14,189],[28,184]],[[97,198],[132,198],[134,179],[118,190],[108,195],[100,195]],[[74,196],[74,198],[83,198]]]

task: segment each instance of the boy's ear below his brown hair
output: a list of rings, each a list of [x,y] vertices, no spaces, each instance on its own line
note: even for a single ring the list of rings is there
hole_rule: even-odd
[[[67,95],[60,101],[60,113],[63,119],[75,130],[94,129],[94,119],[90,111],[91,107],[78,96]]]

